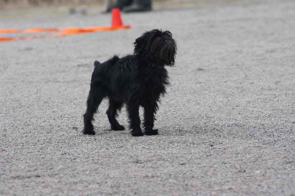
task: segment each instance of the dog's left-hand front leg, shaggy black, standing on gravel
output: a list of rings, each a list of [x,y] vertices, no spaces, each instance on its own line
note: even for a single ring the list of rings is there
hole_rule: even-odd
[[[142,130],[140,128],[140,118],[139,118],[139,104],[133,101],[127,103],[127,112],[129,117],[131,135],[133,136],[143,136]]]

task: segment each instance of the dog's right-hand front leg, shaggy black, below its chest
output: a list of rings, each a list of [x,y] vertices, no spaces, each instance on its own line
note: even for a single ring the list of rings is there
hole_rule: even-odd
[[[144,105],[144,134],[146,135],[158,135],[158,130],[153,129],[157,108],[158,104],[156,102]]]

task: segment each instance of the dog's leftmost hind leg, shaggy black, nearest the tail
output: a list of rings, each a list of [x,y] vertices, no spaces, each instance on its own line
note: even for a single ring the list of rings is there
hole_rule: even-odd
[[[94,135],[92,121],[94,113],[96,113],[98,106],[104,98],[103,89],[98,86],[91,86],[88,99],[87,99],[87,109],[84,114],[84,130],[83,134]]]

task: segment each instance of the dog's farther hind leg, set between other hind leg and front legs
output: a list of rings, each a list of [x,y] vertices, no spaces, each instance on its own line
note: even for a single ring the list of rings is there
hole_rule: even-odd
[[[122,103],[115,101],[113,99],[109,99],[109,106],[107,110],[107,115],[108,115],[108,121],[111,124],[111,129],[112,130],[124,130],[124,126],[120,125],[116,119],[118,116],[117,110],[121,110],[122,108]]]

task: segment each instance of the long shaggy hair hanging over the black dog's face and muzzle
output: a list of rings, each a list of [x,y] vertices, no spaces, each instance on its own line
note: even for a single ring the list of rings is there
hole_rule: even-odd
[[[156,63],[173,66],[176,55],[176,42],[170,37],[157,37],[153,40],[150,51]]]

